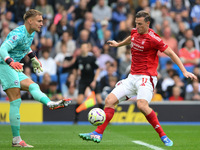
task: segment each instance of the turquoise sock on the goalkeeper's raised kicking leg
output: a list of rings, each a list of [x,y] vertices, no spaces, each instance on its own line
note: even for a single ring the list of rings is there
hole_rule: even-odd
[[[40,90],[40,87],[33,83],[29,86],[29,92],[33,96],[33,98],[45,105],[47,105],[48,102],[51,100]]]

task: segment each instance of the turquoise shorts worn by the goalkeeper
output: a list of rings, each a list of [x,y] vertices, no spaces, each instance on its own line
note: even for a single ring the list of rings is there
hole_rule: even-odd
[[[7,64],[0,64],[0,84],[3,90],[20,88],[20,82],[28,77],[23,72],[17,72]]]

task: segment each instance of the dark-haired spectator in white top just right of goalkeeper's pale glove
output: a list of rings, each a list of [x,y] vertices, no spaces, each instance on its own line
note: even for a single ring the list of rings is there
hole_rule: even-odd
[[[56,62],[49,55],[50,55],[49,50],[45,49],[42,51],[42,57],[39,58],[39,61],[42,63],[43,72],[37,73],[38,76],[44,75],[45,72],[49,73],[50,75],[56,75],[57,73]]]

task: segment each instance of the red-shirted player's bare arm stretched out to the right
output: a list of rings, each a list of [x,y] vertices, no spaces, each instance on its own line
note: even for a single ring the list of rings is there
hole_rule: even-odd
[[[183,75],[186,77],[186,78],[191,78],[192,80],[193,79],[197,79],[197,77],[191,73],[191,72],[188,72],[185,67],[183,66],[183,63],[181,62],[180,58],[173,52],[173,50],[168,47],[164,53],[166,55],[168,55],[177,65],[178,67],[181,69]]]

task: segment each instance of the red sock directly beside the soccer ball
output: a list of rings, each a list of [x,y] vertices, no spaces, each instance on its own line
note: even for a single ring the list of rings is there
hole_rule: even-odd
[[[104,109],[104,112],[106,114],[106,120],[102,125],[98,126],[97,129],[95,130],[99,134],[103,134],[104,130],[106,129],[108,123],[110,122],[115,113],[115,109],[107,107]]]

